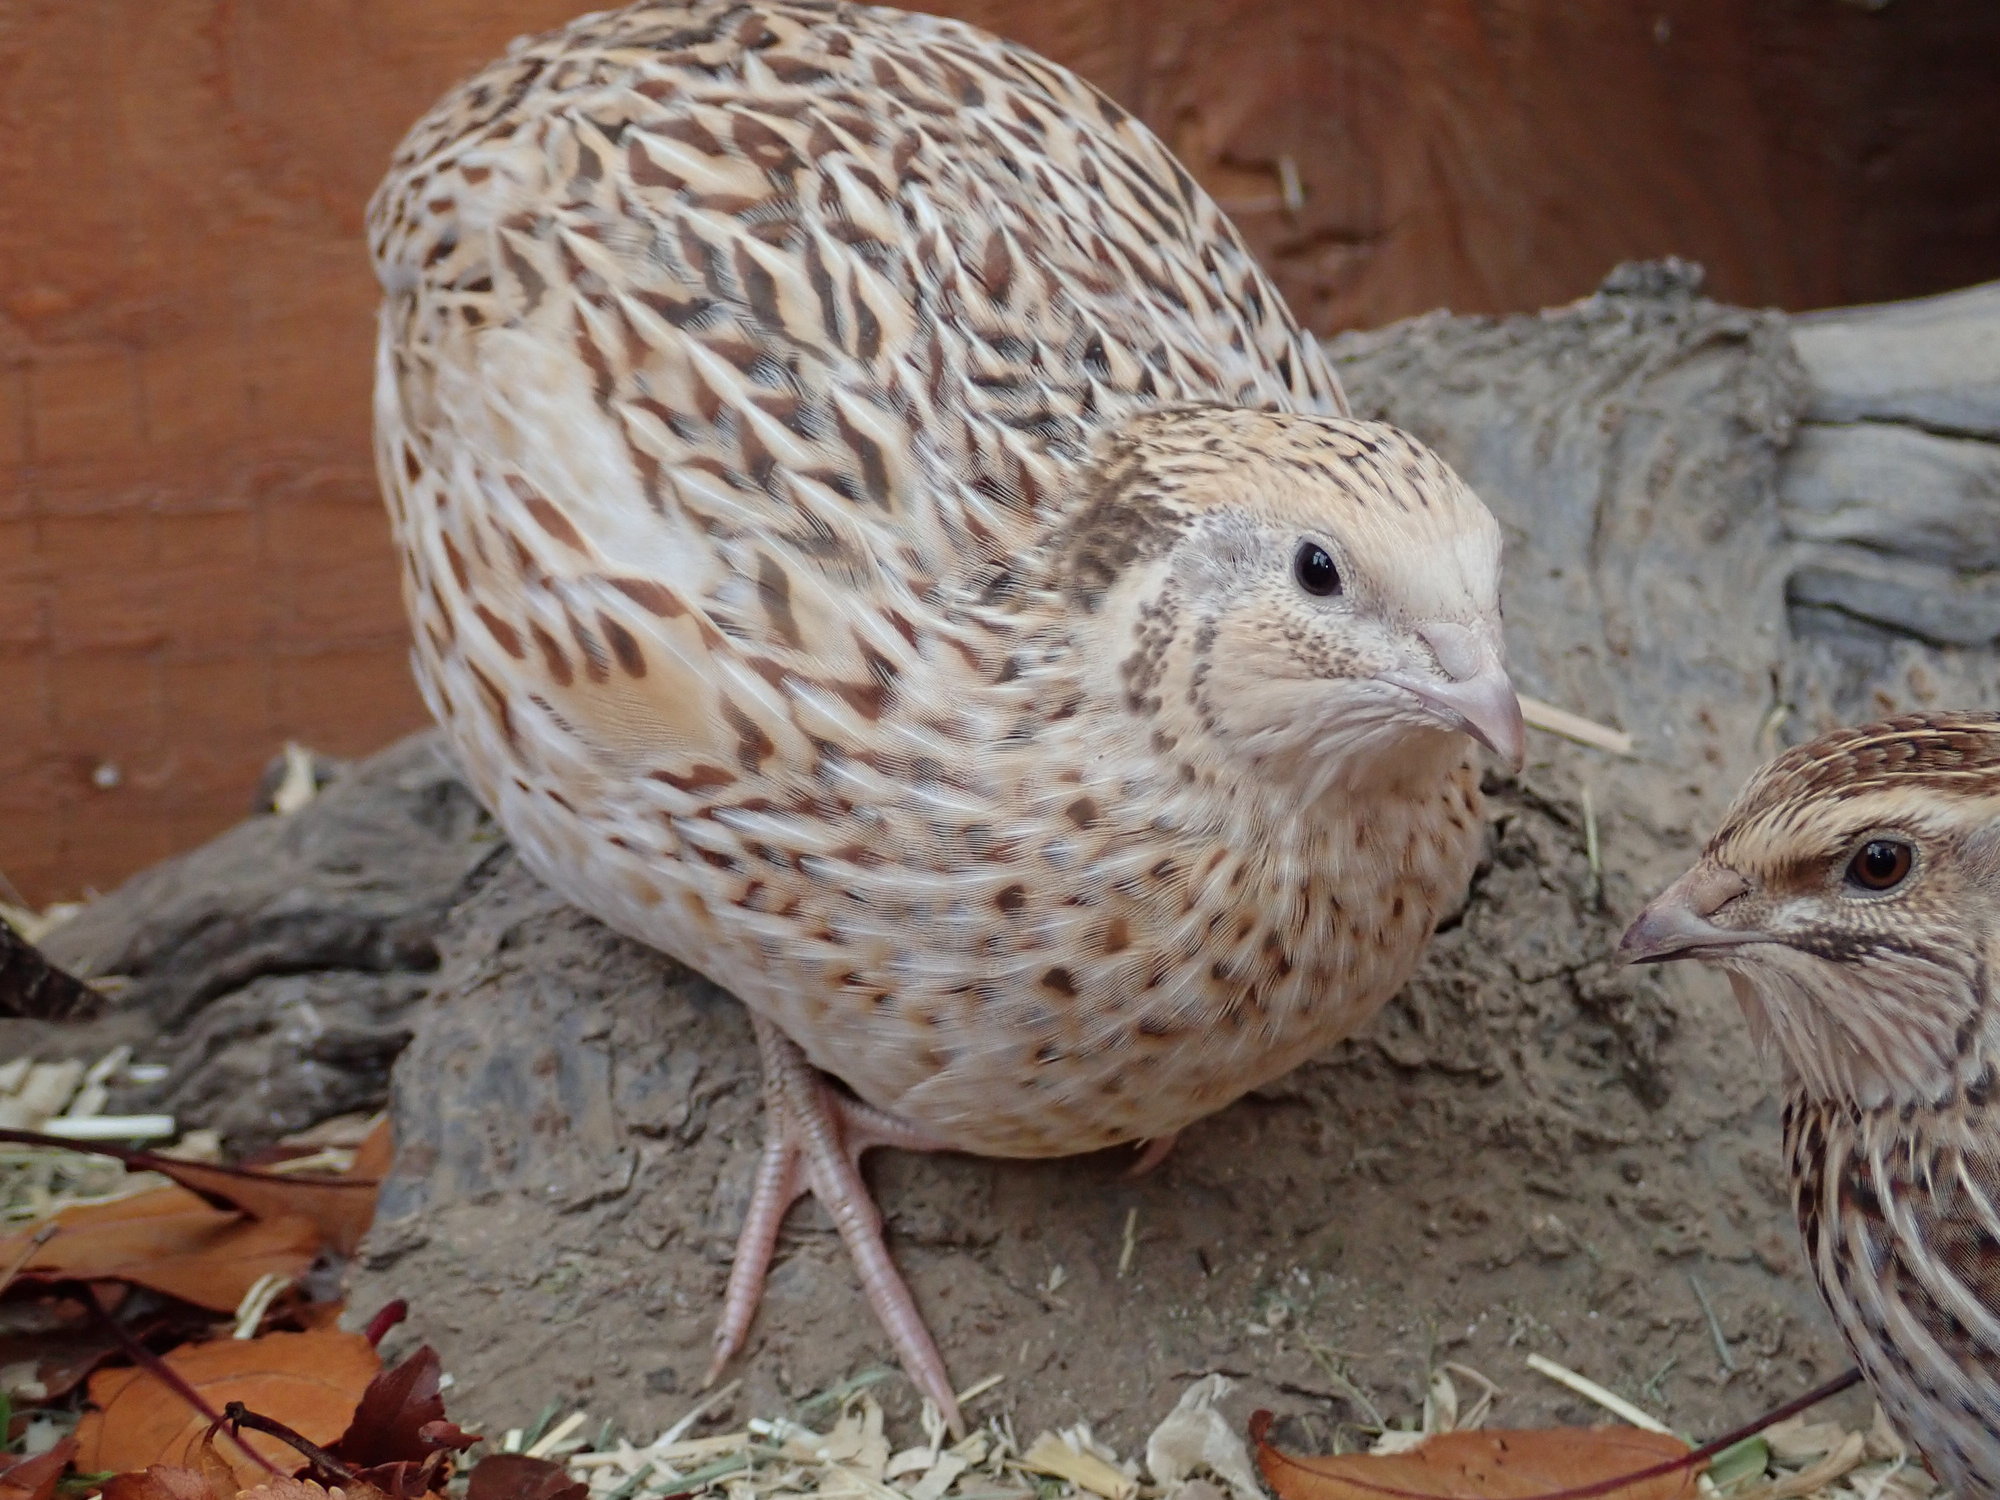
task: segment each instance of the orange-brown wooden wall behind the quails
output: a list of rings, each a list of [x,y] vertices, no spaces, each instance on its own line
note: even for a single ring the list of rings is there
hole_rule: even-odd
[[[362,204],[446,84],[576,4],[0,0],[0,872],[26,898],[242,816],[286,738],[420,722]],[[1792,308],[2000,274],[1988,0],[934,8],[1136,108],[1320,330],[1544,306],[1668,252]]]

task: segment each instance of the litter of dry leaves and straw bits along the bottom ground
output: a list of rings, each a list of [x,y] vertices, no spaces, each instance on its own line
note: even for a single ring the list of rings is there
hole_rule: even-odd
[[[88,1116],[92,1080],[128,1066],[128,1056],[14,1062],[0,1070],[0,1102],[26,1098],[42,1120],[78,1104]],[[0,1128],[0,1224],[12,1226],[0,1236],[0,1310],[28,1328],[0,1334],[0,1396],[36,1412],[0,1424],[0,1500],[54,1500],[58,1484],[106,1500],[426,1500],[448,1486],[462,1500],[1258,1500],[1260,1472],[1280,1500],[1384,1488],[1528,1496],[1690,1452],[1638,1406],[1532,1354],[1530,1370],[1624,1426],[1486,1428],[1500,1388],[1442,1364],[1416,1420],[1392,1426],[1376,1414],[1366,1454],[1286,1454],[1254,1424],[1252,1460],[1218,1410],[1230,1392],[1220,1374],[1184,1388],[1144,1462],[1100,1442],[1088,1422],[1022,1444],[1006,1416],[990,1416],[952,1444],[928,1406],[922,1440],[896,1446],[870,1394],[890,1372],[876,1370],[714,1436],[694,1436],[696,1424],[734,1384],[648,1444],[610,1430],[592,1440],[586,1412],[554,1406],[492,1444],[446,1416],[434,1350],[382,1368],[376,1342],[400,1304],[366,1334],[338,1332],[340,1304],[312,1302],[302,1286],[314,1262],[352,1254],[366,1232],[390,1160],[386,1122],[330,1122],[254,1166],[216,1156],[198,1134],[140,1152]],[[1136,1238],[1128,1216],[1126,1262]],[[960,1404],[998,1384],[976,1382]],[[464,1488],[462,1454],[476,1454]],[[1722,1452],[1700,1480],[1682,1468],[1622,1494],[1668,1500],[1696,1484],[1710,1500],[1926,1500],[1934,1490],[1880,1412],[1868,1432],[1796,1416]]]

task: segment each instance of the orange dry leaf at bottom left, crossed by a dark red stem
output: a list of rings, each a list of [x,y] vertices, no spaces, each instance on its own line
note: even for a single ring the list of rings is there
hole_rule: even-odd
[[[320,1446],[346,1430],[354,1404],[382,1368],[366,1338],[332,1330],[184,1344],[166,1364],[216,1412],[242,1402]],[[194,1462],[208,1430],[206,1416],[146,1370],[92,1376],[90,1400],[98,1410],[76,1426],[76,1464],[90,1474]],[[242,1438],[280,1472],[298,1468],[298,1454],[278,1438],[262,1432]],[[270,1480],[226,1438],[216,1442],[216,1452],[234,1468],[238,1488]]]

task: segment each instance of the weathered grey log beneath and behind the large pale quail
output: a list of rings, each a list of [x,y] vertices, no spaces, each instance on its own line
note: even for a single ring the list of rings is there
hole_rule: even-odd
[[[1522,688],[1636,752],[1534,736],[1524,776],[1488,788],[1488,858],[1412,986],[1152,1176],[1122,1152],[870,1158],[954,1378],[1004,1376],[974,1418],[1088,1420],[1130,1450],[1186,1380],[1226,1372],[1234,1416],[1270,1406],[1284,1440],[1324,1446],[1412,1422],[1452,1364],[1502,1388],[1498,1424],[1598,1420],[1526,1368],[1538,1352],[1706,1434],[1844,1368],[1794,1248],[1772,1066],[1712,976],[1606,962],[1774,746],[2000,692],[1984,626],[1940,640],[1922,614],[1952,552],[1892,556],[1918,538],[1892,512],[1914,488],[1882,500],[1888,542],[1842,550],[1812,520],[1830,512],[1796,452],[1922,432],[1866,404],[1828,416],[1838,370],[1794,328],[1652,266],[1536,318],[1432,314],[1334,346],[1356,406],[1500,516]],[[48,950],[128,976],[120,1010],[0,1022],[0,1052],[136,1038],[170,1076],[124,1104],[254,1142],[388,1090],[400,1154],[352,1316],[406,1298],[390,1352],[436,1344],[458,1420],[560,1398],[650,1438],[696,1402],[762,1140],[748,1022],[526,876],[432,740],[160,866]],[[806,1204],[710,1420],[888,1364]],[[878,1394],[914,1416],[900,1376]]]

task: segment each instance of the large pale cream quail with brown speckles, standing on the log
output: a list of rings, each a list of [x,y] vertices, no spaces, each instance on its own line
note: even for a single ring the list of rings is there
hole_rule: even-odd
[[[586,16],[410,132],[370,246],[426,702],[756,1020],[716,1366],[810,1190],[956,1422],[856,1156],[1154,1158],[1368,1020],[1520,754],[1498,528],[1144,126],[956,22]]]

